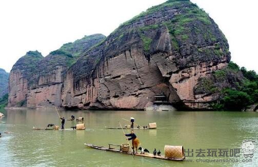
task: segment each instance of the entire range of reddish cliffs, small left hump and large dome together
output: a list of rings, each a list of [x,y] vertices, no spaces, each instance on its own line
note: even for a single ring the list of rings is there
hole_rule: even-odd
[[[107,38],[97,34],[65,44],[33,71],[27,65],[16,70],[18,61],[9,106],[26,100],[28,107],[144,109],[163,91],[177,107],[207,109],[220,96],[207,83],[234,87],[243,78],[230,71],[223,80],[216,77],[229,61],[227,40],[212,18],[189,0],[170,0]]]

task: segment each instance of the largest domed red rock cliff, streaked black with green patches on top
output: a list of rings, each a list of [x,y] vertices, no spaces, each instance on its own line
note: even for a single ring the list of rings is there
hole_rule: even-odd
[[[132,18],[72,65],[62,106],[144,109],[163,91],[171,102],[207,108],[213,94],[194,91],[230,61],[224,34],[190,1],[170,0]]]

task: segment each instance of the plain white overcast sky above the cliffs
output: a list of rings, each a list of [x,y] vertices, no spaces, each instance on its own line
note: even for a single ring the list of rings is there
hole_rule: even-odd
[[[232,61],[257,65],[258,10],[253,0],[191,0],[219,25],[230,45]],[[29,50],[44,56],[84,35],[109,35],[121,23],[165,0],[1,0],[0,68],[10,71]]]

